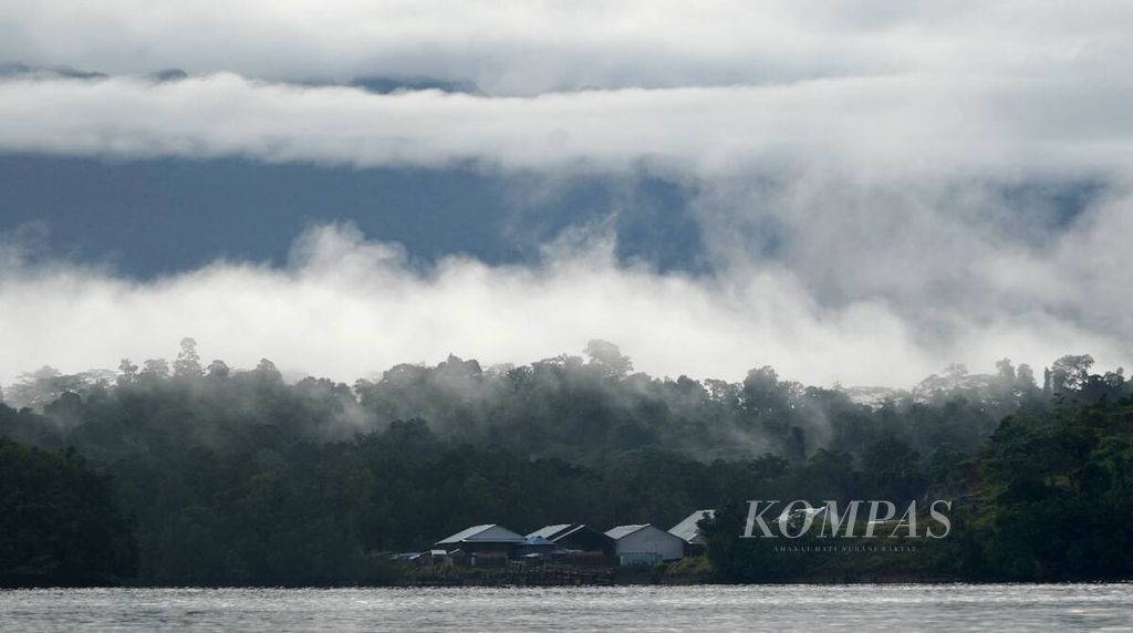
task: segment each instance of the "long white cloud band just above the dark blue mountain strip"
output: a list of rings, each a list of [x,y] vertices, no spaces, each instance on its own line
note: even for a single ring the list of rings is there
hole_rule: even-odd
[[[1133,79],[1012,83],[908,75],[785,86],[488,99],[375,95],[211,75],[152,84],[0,82],[0,151],[894,180],[1130,168]],[[1090,117],[1083,117],[1089,112]]]

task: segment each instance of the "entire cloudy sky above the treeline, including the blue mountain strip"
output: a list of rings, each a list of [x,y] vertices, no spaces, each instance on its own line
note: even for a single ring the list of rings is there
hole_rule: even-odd
[[[0,384],[1133,358],[1133,5],[0,3]]]

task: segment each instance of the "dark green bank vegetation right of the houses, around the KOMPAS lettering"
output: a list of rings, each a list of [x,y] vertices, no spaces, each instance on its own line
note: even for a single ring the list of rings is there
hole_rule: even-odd
[[[1133,397],[1007,417],[942,474],[925,496],[957,495],[947,538],[886,538],[892,525],[872,539],[740,538],[747,507],[730,504],[702,527],[708,554],[723,578],[752,582],[1133,578]]]

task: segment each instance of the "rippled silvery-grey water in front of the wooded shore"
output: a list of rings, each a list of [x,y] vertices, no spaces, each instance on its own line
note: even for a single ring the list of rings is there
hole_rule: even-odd
[[[3,631],[838,627],[1133,631],[1133,584],[0,591]]]

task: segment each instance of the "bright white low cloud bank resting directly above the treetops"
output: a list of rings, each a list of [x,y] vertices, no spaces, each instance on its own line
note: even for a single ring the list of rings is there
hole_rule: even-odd
[[[1122,360],[1111,340],[1049,315],[1004,314],[926,337],[884,301],[825,308],[783,271],[658,274],[615,262],[608,240],[550,248],[536,266],[453,258],[425,273],[348,226],[312,230],[283,270],[238,263],[137,282],[69,265],[0,273],[0,383],[51,363],[66,371],[170,357],[194,336],[208,357],[342,380],[446,354],[485,363],[620,343],[656,375],[740,379],[773,365],[812,383],[908,386],[945,362],[990,368],[1070,350]],[[962,314],[949,318],[961,322]],[[1130,358],[1128,350],[1124,358]]]

